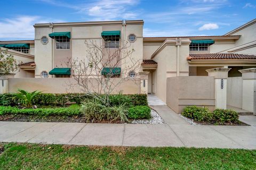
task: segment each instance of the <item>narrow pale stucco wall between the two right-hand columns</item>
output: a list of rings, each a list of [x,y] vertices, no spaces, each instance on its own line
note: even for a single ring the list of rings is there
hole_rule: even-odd
[[[227,105],[242,108],[243,79],[234,77],[227,79]]]

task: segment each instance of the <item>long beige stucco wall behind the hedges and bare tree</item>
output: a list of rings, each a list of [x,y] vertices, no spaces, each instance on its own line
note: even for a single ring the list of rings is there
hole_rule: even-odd
[[[119,82],[120,78],[113,78]],[[8,82],[8,91],[17,92],[17,89],[28,91],[39,90],[43,93],[68,93],[68,92],[83,92],[79,86],[70,88],[70,84],[75,83],[73,78],[52,78],[52,79],[35,79],[35,78],[10,78]],[[94,88],[97,88],[94,86]],[[140,80],[127,80],[117,86],[113,93],[117,94],[140,94]]]

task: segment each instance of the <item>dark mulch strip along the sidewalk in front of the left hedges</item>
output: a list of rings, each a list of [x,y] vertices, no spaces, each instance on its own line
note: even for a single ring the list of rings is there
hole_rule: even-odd
[[[35,115],[0,115],[0,121],[11,122],[70,122],[70,123],[122,123],[120,121],[88,122],[81,116],[35,116]]]

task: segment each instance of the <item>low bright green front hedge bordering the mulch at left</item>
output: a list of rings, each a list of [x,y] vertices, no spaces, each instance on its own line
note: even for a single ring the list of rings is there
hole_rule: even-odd
[[[0,115],[3,114],[23,114],[23,115],[37,115],[37,116],[54,116],[54,115],[61,115],[61,116],[72,116],[72,115],[79,115],[80,106],[78,105],[71,105],[70,107],[59,107],[59,108],[25,108],[19,109],[17,107],[11,106],[0,106]]]

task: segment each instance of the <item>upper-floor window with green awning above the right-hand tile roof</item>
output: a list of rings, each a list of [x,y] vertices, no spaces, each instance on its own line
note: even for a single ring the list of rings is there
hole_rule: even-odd
[[[208,51],[209,46],[214,44],[214,40],[205,39],[205,40],[191,40],[189,45],[190,52],[198,52],[198,51]]]

